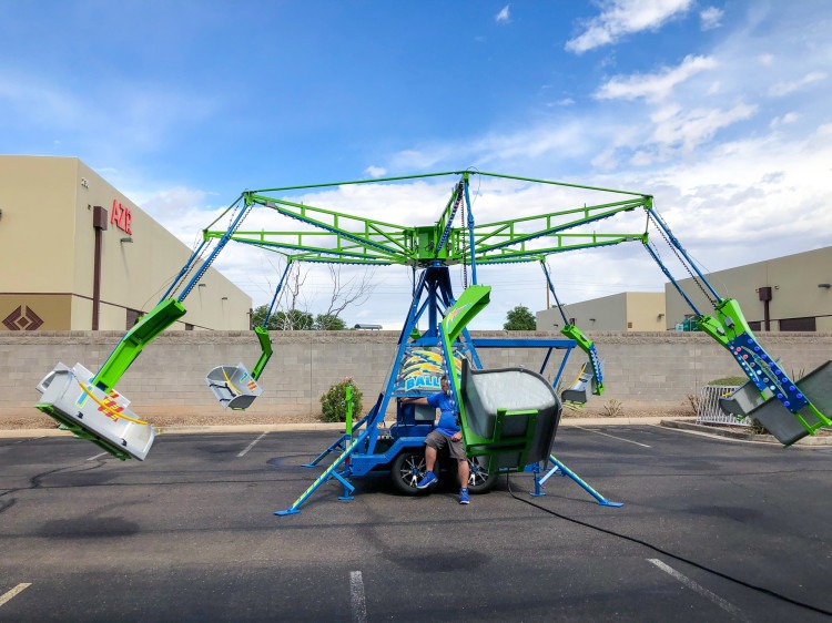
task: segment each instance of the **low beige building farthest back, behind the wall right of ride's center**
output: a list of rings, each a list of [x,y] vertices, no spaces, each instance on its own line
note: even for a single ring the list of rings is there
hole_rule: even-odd
[[[664,295],[660,292],[623,292],[564,306],[570,324],[589,331],[663,331]],[[560,309],[537,313],[537,330],[564,327]]]

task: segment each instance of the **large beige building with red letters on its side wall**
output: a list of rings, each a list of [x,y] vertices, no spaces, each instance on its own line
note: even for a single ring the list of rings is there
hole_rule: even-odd
[[[0,155],[0,330],[124,330],[191,251],[75,157]],[[247,329],[251,297],[213,268],[173,329]]]

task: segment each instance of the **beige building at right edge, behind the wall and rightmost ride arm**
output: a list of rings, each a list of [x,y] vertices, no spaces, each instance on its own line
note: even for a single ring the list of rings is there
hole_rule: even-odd
[[[718,270],[706,278],[720,296],[740,304],[755,331],[832,331],[832,246]],[[692,279],[679,285],[702,314],[712,314]],[[672,329],[691,310],[670,283],[664,293],[667,328]]]

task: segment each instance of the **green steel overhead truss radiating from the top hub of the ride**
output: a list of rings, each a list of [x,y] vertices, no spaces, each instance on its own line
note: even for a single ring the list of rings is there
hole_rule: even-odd
[[[373,218],[353,216],[297,203],[281,197],[281,193],[298,190],[338,187],[348,184],[374,184],[402,180],[456,176],[445,208],[433,225],[406,226]],[[519,180],[540,184],[584,188],[626,195],[615,202],[598,205],[566,207],[546,214],[477,224],[470,216],[468,201],[471,175]],[[278,253],[293,262],[325,262],[334,264],[427,266],[439,262],[456,265],[500,264],[539,261],[546,255],[580,248],[616,245],[622,242],[647,242],[647,233],[579,233],[572,232],[636,208],[649,210],[650,195],[595,186],[566,184],[496,173],[449,172],[384,177],[355,182],[335,182],[310,186],[286,186],[250,191],[242,195],[248,206],[264,206],[278,215],[302,223],[305,228],[273,231],[235,231],[231,239]],[[467,213],[467,221],[463,214]],[[222,238],[225,229],[207,228],[205,241]]]

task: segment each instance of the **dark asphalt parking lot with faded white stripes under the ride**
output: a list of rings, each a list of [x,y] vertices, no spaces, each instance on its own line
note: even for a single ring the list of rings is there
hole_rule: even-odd
[[[335,436],[336,437],[336,436]],[[828,621],[832,448],[565,428],[567,478],[457,503],[301,467],[332,432],[0,439],[0,621]],[[536,504],[536,505],[532,505]],[[825,611],[825,613],[824,613]]]

